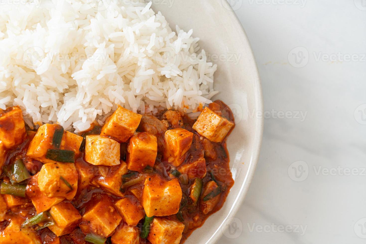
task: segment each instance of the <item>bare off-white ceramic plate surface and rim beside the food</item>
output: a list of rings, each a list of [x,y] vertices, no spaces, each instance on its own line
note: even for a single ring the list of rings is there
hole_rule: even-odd
[[[218,70],[214,99],[224,101],[235,114],[236,126],[227,140],[234,186],[222,209],[191,234],[187,244],[216,243],[243,203],[260,150],[263,119],[262,93],[253,53],[234,11],[226,0],[156,0],[153,9],[171,23],[201,38]],[[242,220],[243,221],[243,220]]]

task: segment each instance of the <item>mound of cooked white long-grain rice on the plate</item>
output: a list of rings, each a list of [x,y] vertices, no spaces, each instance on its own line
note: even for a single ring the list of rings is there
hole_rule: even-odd
[[[192,30],[173,32],[151,2],[103,1],[3,2],[1,109],[83,131],[117,104],[144,114],[211,102],[216,65]]]

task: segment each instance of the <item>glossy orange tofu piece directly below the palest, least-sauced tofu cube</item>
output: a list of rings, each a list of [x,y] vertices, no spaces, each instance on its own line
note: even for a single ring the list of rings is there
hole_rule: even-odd
[[[113,195],[124,196],[120,189],[122,187],[122,176],[126,173],[127,165],[122,161],[120,165],[108,167],[108,173],[105,176],[98,177],[97,184]]]

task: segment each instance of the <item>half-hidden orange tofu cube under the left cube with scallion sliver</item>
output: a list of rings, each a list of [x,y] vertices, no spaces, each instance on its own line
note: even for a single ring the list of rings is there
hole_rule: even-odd
[[[33,206],[36,208],[37,213],[41,213],[51,209],[52,206],[57,203],[62,202],[65,198],[61,196],[55,196],[49,198],[45,194],[43,194],[38,187],[38,172],[30,179],[27,185],[27,196],[29,196],[30,200],[33,203]]]

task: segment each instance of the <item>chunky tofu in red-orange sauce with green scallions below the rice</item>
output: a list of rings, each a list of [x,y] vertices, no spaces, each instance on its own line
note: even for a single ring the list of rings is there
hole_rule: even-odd
[[[0,243],[183,243],[234,184],[225,107],[216,101],[193,120],[119,106],[78,134],[2,111]]]

